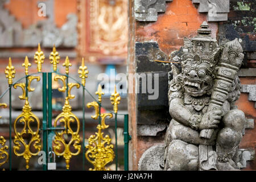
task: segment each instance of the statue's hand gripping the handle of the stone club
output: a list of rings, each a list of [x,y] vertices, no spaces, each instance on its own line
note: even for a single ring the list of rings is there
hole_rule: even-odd
[[[218,127],[218,123],[221,120],[221,110],[212,110],[205,113],[199,124],[199,129],[215,129]]]

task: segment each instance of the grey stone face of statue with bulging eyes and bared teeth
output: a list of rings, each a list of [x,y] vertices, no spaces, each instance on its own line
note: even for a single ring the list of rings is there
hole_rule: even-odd
[[[210,94],[213,86],[213,65],[201,60],[196,55],[184,61],[183,82],[184,89],[190,96],[199,97]]]

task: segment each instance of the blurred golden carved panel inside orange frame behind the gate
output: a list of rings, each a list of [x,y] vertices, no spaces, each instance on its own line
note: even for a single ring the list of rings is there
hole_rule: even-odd
[[[127,52],[127,1],[89,1],[89,49],[104,55]]]

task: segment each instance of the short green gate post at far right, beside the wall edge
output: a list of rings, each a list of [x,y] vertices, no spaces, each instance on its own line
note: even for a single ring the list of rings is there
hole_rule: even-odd
[[[125,147],[124,147],[125,171],[129,170],[129,140],[130,139],[131,137],[129,135],[129,118],[128,118],[128,114],[125,114],[125,121],[123,126],[123,140],[125,142]]]

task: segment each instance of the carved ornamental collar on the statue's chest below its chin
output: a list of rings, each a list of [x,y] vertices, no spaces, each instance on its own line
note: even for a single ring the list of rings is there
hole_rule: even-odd
[[[207,112],[210,97],[195,98],[187,94],[184,96],[185,107],[193,114],[204,114]]]

